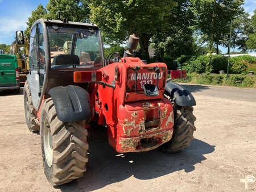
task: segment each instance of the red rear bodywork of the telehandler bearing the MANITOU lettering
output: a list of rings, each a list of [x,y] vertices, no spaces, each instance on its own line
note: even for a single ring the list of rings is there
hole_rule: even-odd
[[[141,86],[144,83],[157,85],[157,73],[153,68],[160,69],[158,96],[135,92],[135,66],[139,66],[137,91],[140,93],[144,93]],[[122,62],[105,66],[100,71],[102,82],[115,84],[115,88],[94,84],[90,93],[98,112],[98,123],[107,124],[109,143],[116,151],[148,151],[171,139],[173,109],[171,103],[163,98],[166,64],[144,64],[138,58],[125,57]],[[150,122],[159,123],[152,127],[145,126]]]

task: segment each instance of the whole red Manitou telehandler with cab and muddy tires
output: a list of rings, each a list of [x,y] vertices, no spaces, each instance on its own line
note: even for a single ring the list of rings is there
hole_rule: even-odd
[[[83,176],[92,124],[105,128],[109,144],[121,153],[158,147],[173,153],[193,139],[195,99],[167,80],[166,64],[133,57],[138,41],[131,35],[122,58],[113,52],[104,59],[95,24],[33,24],[24,111],[30,131],[40,130],[44,173],[52,185]]]

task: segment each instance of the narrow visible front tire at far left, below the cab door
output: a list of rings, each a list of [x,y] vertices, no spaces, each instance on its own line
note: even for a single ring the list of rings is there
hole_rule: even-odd
[[[27,81],[25,82],[25,85],[24,85],[23,95],[24,95],[24,112],[25,112],[27,127],[31,132],[39,131],[40,127],[36,123],[36,115],[33,112],[34,107],[32,105],[31,92],[30,92],[30,88],[28,86]]]

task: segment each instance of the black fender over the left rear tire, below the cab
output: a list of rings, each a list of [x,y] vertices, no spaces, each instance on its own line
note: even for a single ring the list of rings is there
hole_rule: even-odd
[[[57,117],[62,122],[72,123],[92,118],[89,93],[81,87],[53,87],[49,94],[55,105]]]

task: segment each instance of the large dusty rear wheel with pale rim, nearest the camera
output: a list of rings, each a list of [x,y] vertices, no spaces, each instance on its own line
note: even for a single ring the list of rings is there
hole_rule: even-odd
[[[87,130],[79,123],[63,123],[51,98],[40,114],[43,166],[52,185],[62,185],[83,176],[88,162]]]

